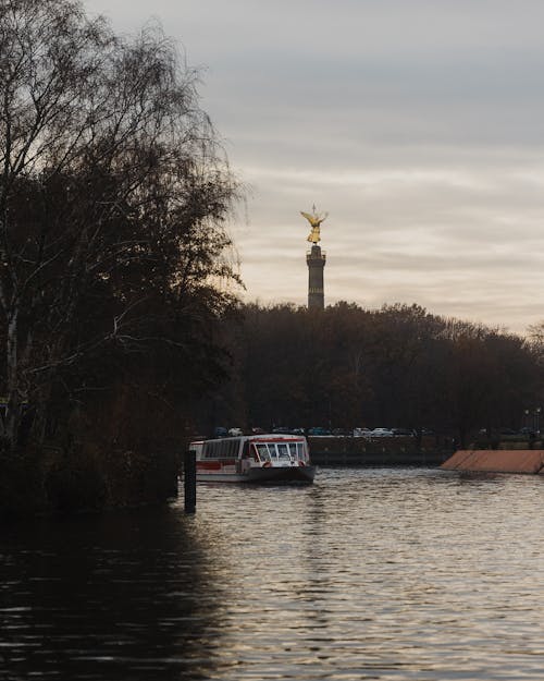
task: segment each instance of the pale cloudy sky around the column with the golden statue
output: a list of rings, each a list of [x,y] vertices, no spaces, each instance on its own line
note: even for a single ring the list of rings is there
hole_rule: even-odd
[[[158,21],[247,190],[247,301],[417,303],[524,333],[544,320],[542,0],[84,0]]]

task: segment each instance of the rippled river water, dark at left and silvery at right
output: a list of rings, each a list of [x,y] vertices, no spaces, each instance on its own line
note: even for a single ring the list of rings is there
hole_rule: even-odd
[[[543,494],[321,470],[2,528],[0,679],[541,681]]]

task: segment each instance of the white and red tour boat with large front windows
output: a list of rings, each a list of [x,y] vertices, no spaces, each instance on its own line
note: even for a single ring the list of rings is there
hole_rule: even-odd
[[[197,481],[311,484],[316,466],[300,435],[247,435],[191,442]]]

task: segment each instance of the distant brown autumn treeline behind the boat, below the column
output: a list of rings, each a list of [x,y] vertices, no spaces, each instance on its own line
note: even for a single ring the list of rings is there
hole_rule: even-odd
[[[228,335],[232,379],[201,428],[430,428],[465,442],[481,428],[520,428],[524,410],[542,403],[536,335],[418,305],[248,305]]]

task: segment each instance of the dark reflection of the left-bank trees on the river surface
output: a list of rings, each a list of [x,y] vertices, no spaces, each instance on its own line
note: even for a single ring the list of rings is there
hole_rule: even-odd
[[[174,509],[12,528],[0,679],[208,678],[222,562],[197,535]]]

